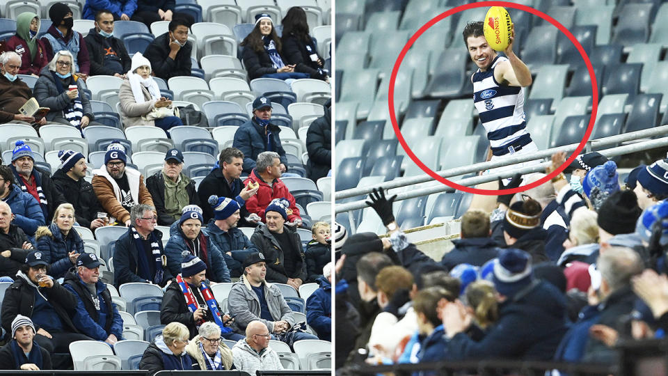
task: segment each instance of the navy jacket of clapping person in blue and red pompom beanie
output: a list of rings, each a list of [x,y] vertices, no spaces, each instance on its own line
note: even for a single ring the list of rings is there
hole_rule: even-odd
[[[566,297],[545,281],[532,283],[499,307],[499,320],[482,340],[466,333],[450,339],[445,360],[535,359],[550,360],[566,333]]]

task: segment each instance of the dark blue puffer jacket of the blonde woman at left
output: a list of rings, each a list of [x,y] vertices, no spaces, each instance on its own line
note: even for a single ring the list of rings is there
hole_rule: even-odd
[[[37,249],[44,253],[44,259],[49,263],[49,276],[55,279],[65,276],[67,269],[72,267],[68,253],[84,253],[84,240],[74,228],[63,238],[61,229],[51,222],[49,226],[38,228],[35,237]]]

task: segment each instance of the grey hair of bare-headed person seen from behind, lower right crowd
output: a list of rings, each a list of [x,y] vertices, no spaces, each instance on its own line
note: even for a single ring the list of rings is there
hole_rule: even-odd
[[[605,279],[611,292],[629,285],[631,277],[640,274],[644,267],[639,254],[626,246],[612,246],[596,261],[601,279]]]

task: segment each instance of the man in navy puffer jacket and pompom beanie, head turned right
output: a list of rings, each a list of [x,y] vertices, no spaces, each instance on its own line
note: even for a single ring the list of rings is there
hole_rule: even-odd
[[[209,197],[208,203],[214,210],[214,221],[209,221],[207,224],[207,233],[223,253],[230,275],[241,276],[244,273],[241,263],[250,253],[257,252],[255,244],[250,242],[244,231],[237,227],[241,218],[241,207],[232,198],[215,195]]]

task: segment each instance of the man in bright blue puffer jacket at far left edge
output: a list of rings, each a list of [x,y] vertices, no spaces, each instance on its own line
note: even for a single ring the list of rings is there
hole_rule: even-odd
[[[8,166],[0,165],[0,200],[12,209],[12,223],[19,226],[30,240],[35,231],[44,225],[44,213],[38,201],[14,184],[14,174]]]

